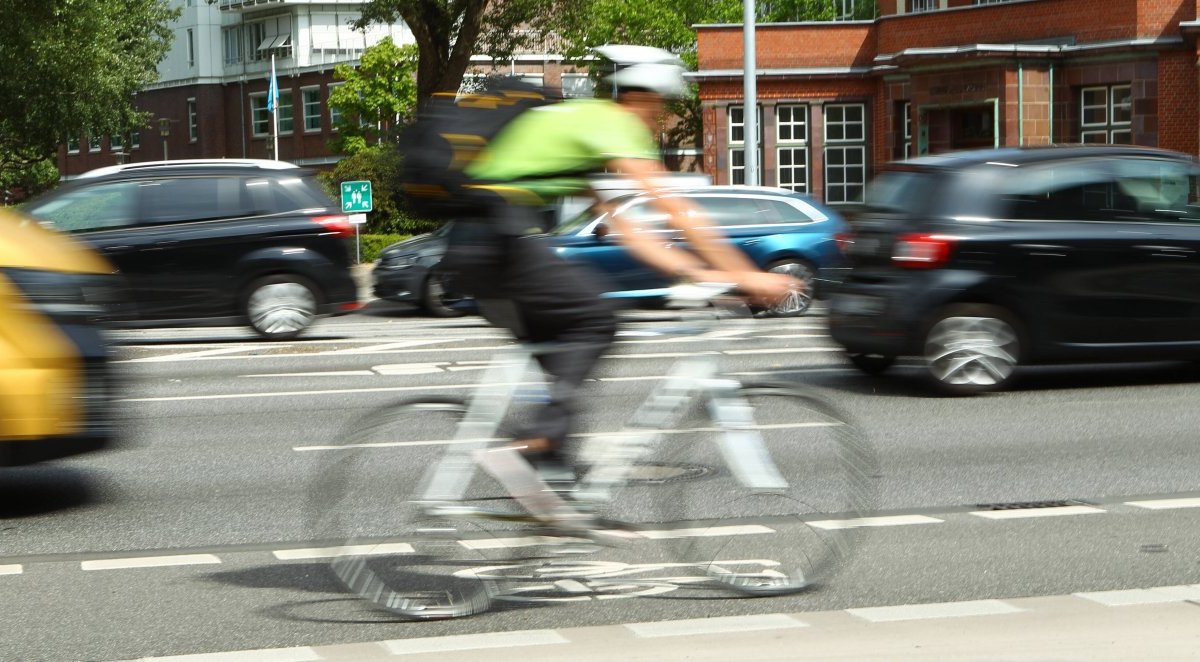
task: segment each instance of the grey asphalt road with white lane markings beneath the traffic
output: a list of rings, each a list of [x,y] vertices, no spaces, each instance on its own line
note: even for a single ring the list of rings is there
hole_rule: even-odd
[[[630,327],[660,326],[654,317],[638,314]],[[1009,392],[940,398],[916,366],[881,378],[847,368],[816,314],[755,320],[719,344],[624,337],[588,387],[586,420],[589,429],[619,426],[656,377],[698,349],[722,351],[726,371],[746,380],[816,386],[866,432],[881,467],[869,513],[880,525],[836,580],[780,598],[582,594],[458,621],[396,622],[348,598],[320,560],[287,558],[318,537],[313,486],[336,453],[320,447],[395,399],[466,393],[504,336],[475,318],[433,320],[376,302],[290,343],[228,329],[119,339],[131,377],[128,443],[0,473],[2,660],[131,660],[1200,583],[1200,373],[1190,366],[1038,368]],[[412,452],[415,476],[432,450]],[[1015,514],[986,516],[1006,510]]]

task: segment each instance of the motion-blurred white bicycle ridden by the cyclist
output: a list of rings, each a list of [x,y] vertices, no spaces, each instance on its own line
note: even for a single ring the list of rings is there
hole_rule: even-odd
[[[648,333],[703,341],[744,311],[728,289],[664,290],[689,324]],[[588,526],[518,505],[476,457],[512,439],[515,401],[539,385],[526,375],[551,350],[564,348],[502,349],[469,398],[388,405],[347,439],[318,505],[347,589],[406,619],[443,619],[534,595],[791,594],[848,558],[862,531],[853,520],[874,505],[870,447],[811,390],[742,384],[712,351],[680,359],[619,431],[576,435],[586,471],[562,502]],[[791,481],[772,459],[784,445],[800,449]],[[397,483],[414,462],[432,464],[406,495]]]

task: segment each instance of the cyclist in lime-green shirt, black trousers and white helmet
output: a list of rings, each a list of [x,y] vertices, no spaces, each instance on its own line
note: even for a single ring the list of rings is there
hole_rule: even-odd
[[[473,295],[491,323],[527,342],[553,342],[560,350],[539,355],[553,379],[548,402],[509,446],[488,453],[486,470],[508,473],[516,452],[546,481],[570,481],[563,443],[571,431],[575,392],[604,355],[617,330],[613,306],[601,294],[604,278],[557,257],[539,241],[521,239],[540,224],[540,209],[553,198],[587,191],[588,173],[618,173],[653,195],[668,224],[685,236],[689,251],[671,249],[634,222],[613,216],[613,235],[656,270],[678,278],[734,283],[761,302],[778,301],[803,285],[763,272],[704,222],[685,199],[660,189],[666,171],[653,130],[668,98],[685,91],[683,67],[666,50],[637,46],[596,49],[618,68],[607,77],[616,100],[568,100],[517,116],[468,167],[476,181],[480,212],[456,222],[444,265],[455,288]],[[517,496],[517,494],[514,494]],[[529,507],[529,504],[526,504]]]

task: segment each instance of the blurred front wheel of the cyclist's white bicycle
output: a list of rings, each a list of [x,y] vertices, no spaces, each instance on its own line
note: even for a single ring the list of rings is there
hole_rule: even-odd
[[[707,579],[697,588],[743,595],[812,588],[860,542],[858,518],[875,507],[876,458],[845,415],[806,390],[746,385],[740,395],[769,453],[764,464],[778,468],[786,486],[746,487],[721,453],[724,432],[694,407],[666,431],[652,461],[679,479],[660,485],[662,524],[648,535],[672,541],[679,559]]]

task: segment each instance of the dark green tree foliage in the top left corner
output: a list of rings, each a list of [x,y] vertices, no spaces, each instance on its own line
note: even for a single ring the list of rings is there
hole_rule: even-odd
[[[133,95],[157,79],[179,11],[167,0],[0,0],[0,180],[42,181],[68,136],[145,124]]]

